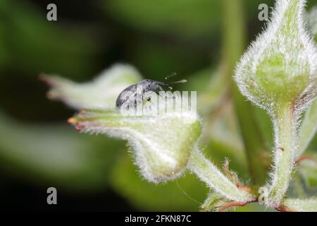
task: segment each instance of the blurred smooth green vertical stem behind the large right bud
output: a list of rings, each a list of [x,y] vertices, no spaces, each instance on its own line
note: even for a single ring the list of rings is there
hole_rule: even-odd
[[[245,47],[244,11],[241,0],[222,0],[223,2],[223,64],[225,76],[230,81],[231,93],[234,101],[235,112],[240,126],[244,148],[252,182],[264,184],[266,182],[266,167],[261,157],[264,148],[261,132],[256,126],[254,110],[249,102],[242,97],[237,85],[232,79],[235,65],[240,59]]]

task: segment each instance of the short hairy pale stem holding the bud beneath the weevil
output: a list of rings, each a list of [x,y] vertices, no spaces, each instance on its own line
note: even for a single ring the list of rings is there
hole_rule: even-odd
[[[225,177],[211,161],[206,159],[198,148],[192,152],[188,167],[194,174],[197,174],[201,181],[229,200],[249,202],[256,199],[255,196],[239,189],[237,184]]]

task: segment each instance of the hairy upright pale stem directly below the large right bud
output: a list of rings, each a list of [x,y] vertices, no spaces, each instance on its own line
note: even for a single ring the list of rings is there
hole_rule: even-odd
[[[268,201],[270,206],[277,207],[290,184],[294,167],[297,134],[292,107],[282,107],[273,124],[275,133],[274,171]]]

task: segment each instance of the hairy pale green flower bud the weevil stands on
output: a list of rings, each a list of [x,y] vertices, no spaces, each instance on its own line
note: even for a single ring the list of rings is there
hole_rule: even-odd
[[[195,112],[123,116],[117,110],[86,110],[69,122],[80,131],[127,140],[142,176],[154,183],[184,172],[201,133]]]

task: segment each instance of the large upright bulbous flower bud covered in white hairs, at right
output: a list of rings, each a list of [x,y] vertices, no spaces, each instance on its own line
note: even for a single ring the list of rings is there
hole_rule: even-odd
[[[302,110],[316,97],[317,50],[304,26],[304,0],[278,0],[268,28],[237,65],[242,93],[271,114]]]

